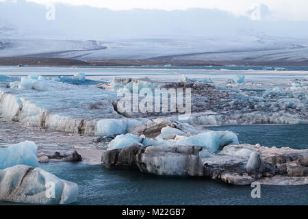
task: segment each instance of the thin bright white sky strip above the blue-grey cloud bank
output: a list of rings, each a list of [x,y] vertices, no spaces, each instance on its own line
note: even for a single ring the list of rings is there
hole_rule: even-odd
[[[0,0],[5,1],[5,0]],[[276,20],[308,21],[307,0],[27,0],[37,3],[62,2],[72,5],[90,5],[111,10],[132,8],[185,10],[188,8],[216,8],[243,15],[254,4],[268,5],[271,18]]]

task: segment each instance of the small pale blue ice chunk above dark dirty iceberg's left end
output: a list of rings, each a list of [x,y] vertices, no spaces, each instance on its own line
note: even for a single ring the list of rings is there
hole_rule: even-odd
[[[129,146],[130,144],[137,143],[141,144],[143,138],[140,138],[138,136],[135,136],[131,133],[127,133],[126,135],[119,135],[112,140],[108,146],[108,149],[113,150],[113,149],[122,149],[125,146]]]

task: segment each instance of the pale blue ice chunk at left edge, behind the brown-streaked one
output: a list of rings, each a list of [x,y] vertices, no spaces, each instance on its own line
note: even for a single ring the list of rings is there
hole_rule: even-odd
[[[38,146],[34,142],[21,142],[13,144],[8,148],[0,148],[0,169],[8,168],[18,164],[27,166],[38,166],[36,151]]]

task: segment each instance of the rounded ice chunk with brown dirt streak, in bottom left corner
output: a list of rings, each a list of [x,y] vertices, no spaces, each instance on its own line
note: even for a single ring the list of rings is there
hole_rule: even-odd
[[[70,204],[77,201],[78,185],[40,168],[17,165],[0,170],[0,200],[32,204]]]

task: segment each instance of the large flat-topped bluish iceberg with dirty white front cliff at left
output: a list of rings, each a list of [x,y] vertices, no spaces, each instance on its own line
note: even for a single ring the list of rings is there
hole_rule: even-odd
[[[10,83],[10,88],[0,86],[2,118],[28,126],[94,135],[99,133],[99,120],[122,117],[112,106],[116,92],[31,77]]]

